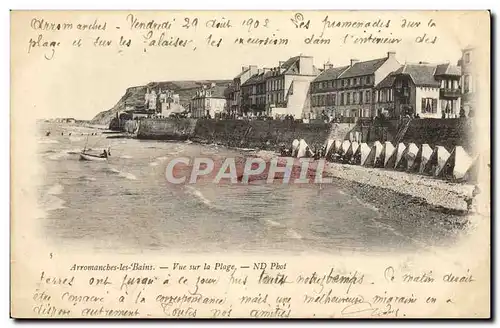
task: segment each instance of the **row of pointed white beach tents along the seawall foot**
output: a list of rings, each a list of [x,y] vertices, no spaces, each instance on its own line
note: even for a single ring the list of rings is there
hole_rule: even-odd
[[[462,146],[451,152],[443,146],[432,148],[428,144],[375,141],[369,146],[350,140],[329,139],[323,147],[313,152],[304,139],[295,139],[291,156],[325,158],[327,161],[366,167],[385,168],[430,175],[455,182],[476,182],[479,157],[470,156]]]

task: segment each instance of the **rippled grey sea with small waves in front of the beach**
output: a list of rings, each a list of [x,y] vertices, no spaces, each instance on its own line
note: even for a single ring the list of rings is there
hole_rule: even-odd
[[[174,158],[223,159],[243,151],[109,138],[103,129],[77,125],[38,127],[37,223],[58,245],[125,253],[380,253],[422,249],[444,240],[432,236],[447,235],[335,183],[175,185],[165,178]],[[111,156],[81,161],[84,146],[109,147]]]

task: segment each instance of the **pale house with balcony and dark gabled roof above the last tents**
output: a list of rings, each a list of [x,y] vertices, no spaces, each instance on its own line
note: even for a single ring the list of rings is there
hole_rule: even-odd
[[[405,64],[394,73],[391,117],[455,118],[460,112],[460,69],[447,64]],[[379,95],[376,101],[380,101]]]

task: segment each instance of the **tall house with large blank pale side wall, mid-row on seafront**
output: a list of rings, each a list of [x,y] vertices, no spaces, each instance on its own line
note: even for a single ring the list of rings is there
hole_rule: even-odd
[[[310,110],[309,87],[319,73],[313,57],[303,55],[271,68],[265,85],[267,114],[302,118]]]

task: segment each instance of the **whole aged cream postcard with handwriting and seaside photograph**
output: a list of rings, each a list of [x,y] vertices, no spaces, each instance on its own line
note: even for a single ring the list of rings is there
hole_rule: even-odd
[[[478,318],[490,12],[11,12],[11,317]]]

